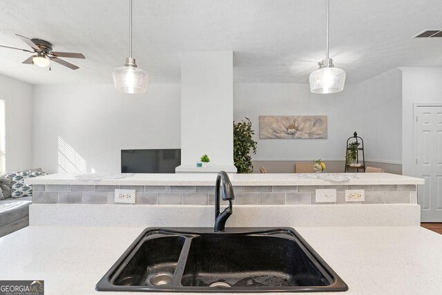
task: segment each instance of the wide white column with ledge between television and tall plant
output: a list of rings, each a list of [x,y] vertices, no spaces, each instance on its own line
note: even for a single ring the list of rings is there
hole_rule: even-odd
[[[196,168],[201,155],[208,168]],[[181,166],[177,172],[236,172],[233,52],[185,52],[181,68]]]

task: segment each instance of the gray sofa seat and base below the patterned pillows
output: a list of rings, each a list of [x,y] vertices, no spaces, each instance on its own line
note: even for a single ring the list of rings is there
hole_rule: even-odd
[[[29,225],[31,198],[7,198],[0,200],[0,237]]]

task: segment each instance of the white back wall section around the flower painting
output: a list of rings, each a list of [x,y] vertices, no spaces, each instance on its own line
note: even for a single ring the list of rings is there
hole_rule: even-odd
[[[361,131],[360,91],[354,84],[330,95],[313,94],[308,84],[234,84],[234,97],[234,119],[249,117],[255,131],[253,160],[343,160],[347,138]],[[327,115],[328,138],[260,140],[260,115]]]

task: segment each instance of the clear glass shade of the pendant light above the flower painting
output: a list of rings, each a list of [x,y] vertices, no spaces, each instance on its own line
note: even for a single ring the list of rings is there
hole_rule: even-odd
[[[342,68],[320,68],[310,74],[312,93],[336,93],[343,91],[345,70]]]

